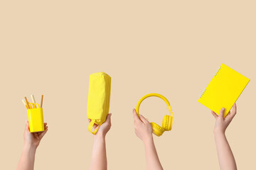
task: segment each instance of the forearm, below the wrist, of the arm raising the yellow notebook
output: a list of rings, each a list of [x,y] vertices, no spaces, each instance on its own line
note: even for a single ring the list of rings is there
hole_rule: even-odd
[[[224,132],[214,132],[221,170],[236,170],[235,157]]]

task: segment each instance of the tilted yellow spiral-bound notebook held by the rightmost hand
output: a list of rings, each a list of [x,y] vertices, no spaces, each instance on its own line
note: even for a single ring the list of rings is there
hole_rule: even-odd
[[[225,108],[225,117],[249,81],[247,77],[221,64],[198,102],[217,114],[221,108]]]

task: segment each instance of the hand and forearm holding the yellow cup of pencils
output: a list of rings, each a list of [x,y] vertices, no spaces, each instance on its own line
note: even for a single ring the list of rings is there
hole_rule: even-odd
[[[35,154],[38,145],[40,144],[44,135],[48,131],[47,123],[44,123],[45,130],[43,132],[33,132],[29,131],[28,121],[26,121],[24,130],[24,145],[21,154],[21,158],[18,162],[16,170],[33,170],[35,163]]]

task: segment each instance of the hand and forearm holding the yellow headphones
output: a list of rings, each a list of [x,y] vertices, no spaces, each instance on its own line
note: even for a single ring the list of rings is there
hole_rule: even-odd
[[[143,115],[137,115],[135,109],[132,110],[134,116],[134,129],[135,134],[144,143],[145,154],[146,154],[146,169],[147,170],[162,170],[163,167],[159,161],[159,157],[156,152],[154,145],[152,127]]]

